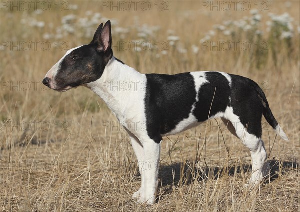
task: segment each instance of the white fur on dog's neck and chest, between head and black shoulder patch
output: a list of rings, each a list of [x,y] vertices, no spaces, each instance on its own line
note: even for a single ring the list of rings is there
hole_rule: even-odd
[[[130,89],[122,85],[130,85]],[[113,57],[106,65],[103,75],[96,81],[87,84],[99,95],[115,114],[121,124],[128,128],[138,139],[145,137],[145,106],[140,102],[145,98],[146,76],[124,65]],[[135,121],[138,121],[136,123]],[[126,127],[127,128],[127,127]]]

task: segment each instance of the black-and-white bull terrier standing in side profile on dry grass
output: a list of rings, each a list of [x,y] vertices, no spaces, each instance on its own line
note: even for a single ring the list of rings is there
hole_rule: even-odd
[[[141,74],[115,58],[111,44],[107,21],[99,25],[89,44],[68,50],[42,82],[60,92],[85,86],[104,100],[126,129],[136,154],[141,187],[133,197],[138,202],[156,202],[162,137],[211,118],[221,118],[250,150],[249,183],[257,184],[269,174],[261,139],[262,115],[282,139],[288,141],[288,137],[254,81],[216,71]],[[123,83],[126,88],[119,89]]]

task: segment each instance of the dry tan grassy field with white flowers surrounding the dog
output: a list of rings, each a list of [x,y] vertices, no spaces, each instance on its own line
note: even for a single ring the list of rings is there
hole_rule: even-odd
[[[0,2],[0,211],[299,211],[299,1],[27,2]],[[142,73],[259,84],[290,138],[262,119],[269,180],[243,188],[250,152],[215,119],[163,138],[159,201],[136,204],[137,161],[105,103],[41,83],[108,19],[115,57]]]

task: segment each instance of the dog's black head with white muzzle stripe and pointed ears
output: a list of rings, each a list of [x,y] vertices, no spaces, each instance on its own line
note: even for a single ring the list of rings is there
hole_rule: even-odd
[[[108,20],[104,27],[103,23],[99,25],[89,44],[68,50],[48,71],[42,83],[63,92],[95,81],[101,77],[112,56],[111,24]]]

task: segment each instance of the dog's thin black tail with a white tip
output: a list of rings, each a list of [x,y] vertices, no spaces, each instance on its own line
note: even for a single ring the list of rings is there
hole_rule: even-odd
[[[254,82],[254,88],[258,93],[259,98],[262,101],[263,104],[263,116],[265,117],[266,121],[271,125],[271,127],[276,131],[276,133],[283,139],[286,141],[289,141],[287,135],[284,133],[284,131],[282,130],[281,126],[278,124],[277,120],[275,119],[269,104],[267,102],[267,99],[265,97],[264,92],[262,91],[262,89],[258,86],[258,84],[256,84]]]

